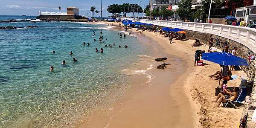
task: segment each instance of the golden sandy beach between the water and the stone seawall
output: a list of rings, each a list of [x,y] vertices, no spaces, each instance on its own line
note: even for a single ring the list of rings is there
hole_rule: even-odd
[[[107,22],[108,23],[108,22]],[[118,25],[115,23],[114,25]],[[124,31],[116,26],[112,30]],[[150,83],[140,87],[136,94],[127,102],[117,104],[108,111],[108,116],[90,119],[81,128],[235,128],[239,124],[243,107],[216,108],[211,102],[216,98],[215,87],[218,81],[212,80],[209,75],[220,71],[218,64],[204,61],[203,67],[194,67],[194,54],[197,49],[208,51],[208,46],[191,47],[194,40],[173,40],[169,44],[169,38],[164,38],[159,33],[142,32],[137,35],[134,28],[132,35],[136,35],[157,53],[154,58],[167,57],[167,61],[156,62],[153,69],[148,70],[152,79]],[[205,43],[205,42],[201,42]],[[221,51],[218,49],[218,51]],[[163,63],[169,63],[166,69],[159,70],[156,67]],[[233,71],[237,79],[228,81],[228,87],[239,87],[240,76],[243,71]],[[222,106],[222,105],[221,105]],[[99,114],[99,113],[98,113]]]

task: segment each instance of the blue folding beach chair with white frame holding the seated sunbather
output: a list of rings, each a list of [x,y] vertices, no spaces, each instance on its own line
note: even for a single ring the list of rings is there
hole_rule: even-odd
[[[237,103],[241,103],[242,100],[244,99],[244,97],[246,96],[246,91],[243,90],[241,87],[239,87],[239,94],[238,94],[238,96],[236,97],[236,101],[233,101],[233,100],[228,99],[228,98],[230,98],[230,96],[227,96],[227,95],[224,95],[224,96],[226,97],[225,100],[227,100],[226,103],[223,103],[223,102],[222,102],[224,108],[226,108],[227,105],[233,105],[233,106],[236,108],[236,104],[237,104]]]

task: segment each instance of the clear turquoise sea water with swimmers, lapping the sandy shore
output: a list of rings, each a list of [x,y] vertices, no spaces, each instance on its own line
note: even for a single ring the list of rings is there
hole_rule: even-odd
[[[0,16],[6,19],[27,17]],[[21,27],[0,30],[0,128],[72,127],[78,117],[110,104],[131,87],[134,76],[124,71],[136,69],[151,50],[136,37],[119,38],[120,32],[104,24],[19,21],[0,26]],[[101,30],[105,43],[100,44]]]

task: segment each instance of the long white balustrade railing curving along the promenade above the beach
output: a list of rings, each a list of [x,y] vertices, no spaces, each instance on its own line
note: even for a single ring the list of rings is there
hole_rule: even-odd
[[[184,30],[191,30],[197,32],[204,32],[213,35],[218,35],[230,40],[239,42],[248,47],[254,53],[256,53],[256,29],[247,28],[241,26],[231,26],[224,24],[213,23],[193,23],[193,22],[179,22],[179,21],[166,21],[166,20],[146,20],[146,19],[133,19],[134,22],[151,23],[159,26],[166,26],[171,28],[179,28]]]

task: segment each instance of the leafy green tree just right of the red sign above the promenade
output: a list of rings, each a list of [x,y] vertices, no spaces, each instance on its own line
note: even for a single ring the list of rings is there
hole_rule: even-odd
[[[189,18],[192,15],[192,0],[181,0],[178,4],[177,14],[181,19]]]

